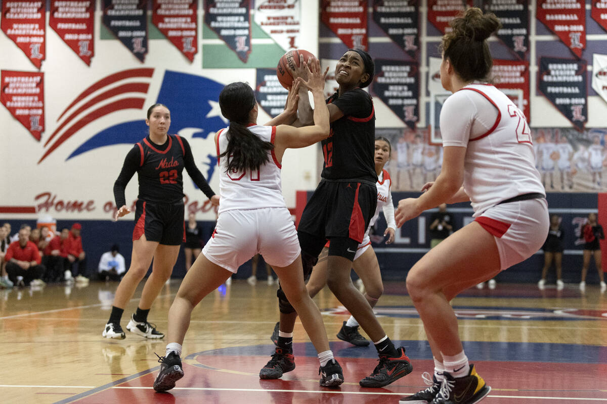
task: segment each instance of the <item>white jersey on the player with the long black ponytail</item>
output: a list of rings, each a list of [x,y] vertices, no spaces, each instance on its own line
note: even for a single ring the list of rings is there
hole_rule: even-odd
[[[253,125],[249,130],[259,136],[262,141],[274,144],[276,127]],[[259,167],[259,170],[226,172],[227,156],[219,157],[228,147],[228,131],[225,128],[217,134],[217,165],[219,165],[219,213],[227,210],[246,210],[259,208],[285,208],[280,182],[280,163],[274,155],[274,150],[268,151],[269,160]],[[238,139],[235,139],[238,141]]]

